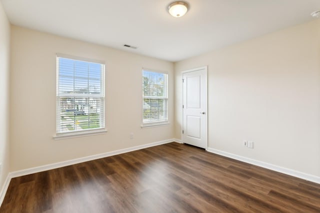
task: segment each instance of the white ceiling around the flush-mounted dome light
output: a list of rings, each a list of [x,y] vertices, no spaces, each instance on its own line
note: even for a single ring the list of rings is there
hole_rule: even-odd
[[[1,0],[12,24],[168,61],[179,61],[312,20],[320,0]],[[123,47],[137,46],[137,49]]]

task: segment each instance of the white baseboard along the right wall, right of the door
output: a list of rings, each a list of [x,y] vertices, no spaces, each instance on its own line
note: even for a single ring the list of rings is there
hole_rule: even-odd
[[[245,162],[245,163],[253,164],[255,166],[263,167],[263,168],[266,168],[266,169],[269,169],[269,170],[273,170],[273,171],[276,171],[276,172],[279,172],[279,173],[290,175],[290,176],[293,176],[293,177],[296,177],[296,178],[300,178],[300,179],[303,179],[303,180],[307,180],[307,181],[311,181],[311,182],[320,184],[320,177],[317,177],[317,176],[314,176],[314,175],[309,175],[309,174],[306,174],[306,173],[298,172],[298,171],[287,169],[287,168],[284,168],[284,167],[279,167],[279,166],[276,166],[276,165],[273,165],[273,164],[265,163],[265,162],[262,162],[262,161],[257,161],[257,160],[246,158],[246,157],[239,156],[239,155],[234,155],[232,153],[223,152],[223,151],[212,149],[212,148],[207,148],[206,151],[214,153],[214,154],[217,154],[217,155],[222,155],[224,157],[232,158],[232,159],[235,159],[235,160],[238,160],[238,161],[242,161],[242,162]]]

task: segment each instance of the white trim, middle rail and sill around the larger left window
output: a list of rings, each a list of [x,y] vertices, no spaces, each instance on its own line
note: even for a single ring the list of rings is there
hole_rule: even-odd
[[[97,63],[97,64],[102,64],[103,65],[103,75],[101,76],[103,78],[103,95],[95,95],[95,94],[78,94],[78,95],[58,95],[58,86],[59,86],[59,61],[58,58],[66,58],[66,59],[71,59],[71,60],[77,60],[77,61],[84,61],[84,62],[89,62],[89,63]],[[61,53],[56,53],[55,56],[56,60],[56,108],[55,108],[55,114],[56,114],[56,129],[55,129],[55,135],[53,136],[54,140],[60,140],[60,139],[66,139],[66,138],[75,138],[75,137],[85,137],[85,136],[90,136],[90,135],[100,135],[100,134],[105,134],[107,132],[105,128],[105,62],[102,60],[96,60],[96,59],[89,59],[89,58],[84,58],[84,57],[78,57],[78,56],[72,56],[72,55],[66,55],[66,54],[61,54]],[[70,131],[70,132],[57,132],[58,131],[58,115],[60,115],[60,104],[59,104],[59,97],[64,97],[64,96],[70,96],[70,97],[96,97],[96,98],[102,98],[103,102],[101,103],[103,105],[103,127],[101,128],[95,128],[95,129],[89,129],[89,130],[75,130],[75,131]]]

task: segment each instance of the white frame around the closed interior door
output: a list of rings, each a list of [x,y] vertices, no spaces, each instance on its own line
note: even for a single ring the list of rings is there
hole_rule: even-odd
[[[201,67],[198,67],[198,68],[193,68],[193,69],[188,69],[188,70],[184,70],[182,71],[182,76],[181,76],[181,82],[183,80],[183,74],[184,73],[187,73],[187,72],[194,72],[194,71],[198,71],[198,70],[202,70],[204,69],[204,72],[205,72],[205,80],[204,80],[204,83],[205,83],[205,91],[206,91],[206,94],[205,94],[205,150],[207,151],[207,148],[208,148],[208,86],[207,86],[207,65],[206,66],[201,66]],[[181,83],[181,96],[182,96],[182,105],[183,105],[183,83]],[[183,134],[182,134],[182,131],[183,131],[183,108],[181,107],[181,114],[182,114],[182,129],[181,129],[181,142],[183,142]]]

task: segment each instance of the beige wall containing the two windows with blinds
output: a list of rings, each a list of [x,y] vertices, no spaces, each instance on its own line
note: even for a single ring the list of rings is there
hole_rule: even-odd
[[[171,62],[17,26],[11,27],[11,34],[11,171],[173,138]],[[56,53],[105,61],[106,134],[52,139],[55,135]],[[142,67],[168,72],[168,126],[140,128]],[[133,139],[129,139],[131,132]]]

